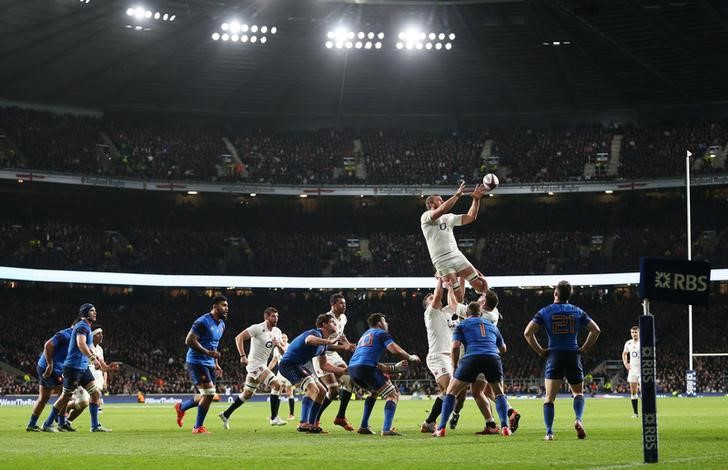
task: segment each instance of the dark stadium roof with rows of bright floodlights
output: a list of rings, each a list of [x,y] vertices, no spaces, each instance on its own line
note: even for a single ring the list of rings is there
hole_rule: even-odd
[[[0,99],[273,116],[715,102],[728,99],[726,3],[2,1]]]

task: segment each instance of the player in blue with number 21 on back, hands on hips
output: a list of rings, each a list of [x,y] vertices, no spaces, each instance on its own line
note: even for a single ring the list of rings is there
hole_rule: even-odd
[[[601,330],[582,309],[569,303],[574,290],[568,281],[561,281],[554,289],[554,303],[536,313],[526,326],[523,336],[531,349],[546,360],[545,387],[546,396],[543,404],[543,418],[546,423],[544,440],[554,440],[554,400],[566,377],[574,396],[574,429],[579,439],[586,438],[586,431],[581,422],[584,414],[584,371],[581,366],[581,355],[588,351]],[[536,339],[536,332],[543,326],[549,338],[548,349],[544,349]],[[584,344],[577,342],[579,330],[586,328],[588,334]]]

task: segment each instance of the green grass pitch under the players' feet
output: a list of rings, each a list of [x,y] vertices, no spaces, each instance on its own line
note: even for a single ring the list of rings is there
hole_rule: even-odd
[[[543,441],[540,400],[512,400],[523,418],[511,437],[476,436],[482,418],[469,400],[460,425],[435,439],[419,432],[432,401],[402,401],[395,426],[404,437],[362,436],[328,425],[338,408],[324,415],[328,435],[297,433],[294,422],[271,427],[267,403],[247,403],[225,431],[214,404],[207,418],[212,435],[192,435],[196,410],[187,413],[184,428],[175,424],[172,406],[108,405],[101,421],[110,434],[91,434],[88,414],[77,422],[79,432],[27,433],[30,407],[0,408],[1,468],[633,468],[642,465],[641,420],[631,417],[629,400],[588,399],[584,416],[587,439],[573,429],[571,400],[556,402],[556,440]],[[296,411],[299,410],[296,402]],[[658,400],[660,463],[667,468],[728,468],[728,398]],[[362,402],[352,401],[349,419],[355,425]],[[281,414],[287,414],[286,402]],[[47,416],[48,408],[41,419]],[[381,427],[378,402],[371,425]],[[651,467],[652,468],[652,467]]]

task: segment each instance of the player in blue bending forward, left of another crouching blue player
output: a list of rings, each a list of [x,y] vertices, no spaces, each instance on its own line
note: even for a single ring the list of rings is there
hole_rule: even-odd
[[[338,376],[346,372],[346,367],[329,364],[326,360],[327,347],[339,341],[338,337],[331,337],[335,331],[336,321],[333,315],[328,313],[319,315],[316,318],[316,328],[304,331],[291,341],[278,364],[281,375],[306,393],[301,402],[301,423],[297,428],[300,432],[312,434],[325,432],[317,425],[317,421],[326,396],[326,387],[319,382],[315,374],[312,374],[313,367],[309,366],[311,361],[318,360],[319,367],[324,372]]]

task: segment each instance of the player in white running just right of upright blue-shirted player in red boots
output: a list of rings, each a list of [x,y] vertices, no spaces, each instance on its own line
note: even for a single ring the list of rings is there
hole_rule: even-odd
[[[268,307],[263,311],[263,322],[256,323],[243,330],[235,337],[235,345],[240,353],[240,363],[246,367],[248,374],[245,377],[243,393],[235,397],[235,401],[228,409],[218,416],[225,429],[230,429],[230,416],[243,403],[250,400],[259,386],[270,387],[270,418],[271,426],[288,424],[278,417],[280,406],[279,395],[281,383],[268,367],[268,358],[274,349],[281,344],[281,330],[278,328],[278,310]],[[245,342],[250,340],[250,356],[245,354]]]

